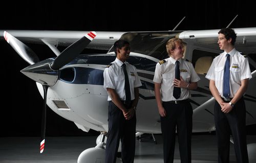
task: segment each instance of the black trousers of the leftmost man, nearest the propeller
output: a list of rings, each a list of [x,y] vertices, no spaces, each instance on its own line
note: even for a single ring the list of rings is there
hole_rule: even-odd
[[[109,102],[109,131],[106,139],[105,162],[115,163],[119,141],[121,139],[121,157],[123,163],[133,163],[135,155],[136,114],[131,120],[125,120],[123,112]]]

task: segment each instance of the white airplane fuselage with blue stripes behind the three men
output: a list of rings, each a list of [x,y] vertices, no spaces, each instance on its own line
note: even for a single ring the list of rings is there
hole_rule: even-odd
[[[108,131],[108,93],[103,88],[103,71],[115,60],[114,54],[80,55],[59,70],[57,82],[49,87],[47,105],[61,117],[73,121],[83,131]],[[157,59],[131,53],[129,60],[138,71],[142,86],[137,106],[137,132],[161,133],[160,115],[154,93],[154,72]],[[193,132],[215,130],[214,102],[208,89],[209,81],[199,75],[198,89],[191,91],[190,102],[194,109]],[[248,95],[255,97],[250,87]],[[43,97],[41,84],[37,87]],[[255,102],[246,100],[247,124],[255,123]],[[198,111],[200,110],[200,111]],[[207,122],[207,123],[205,123]]]

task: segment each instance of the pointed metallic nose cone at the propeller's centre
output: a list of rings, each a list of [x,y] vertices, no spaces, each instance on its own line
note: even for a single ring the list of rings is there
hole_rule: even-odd
[[[50,66],[53,61],[52,58],[40,61],[22,69],[20,72],[38,83],[53,86],[59,76],[59,70],[53,70]]]

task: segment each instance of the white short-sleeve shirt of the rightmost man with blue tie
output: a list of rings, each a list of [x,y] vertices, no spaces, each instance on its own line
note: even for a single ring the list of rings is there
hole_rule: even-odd
[[[223,98],[223,75],[226,62],[226,52],[221,53],[212,61],[211,66],[205,78],[214,80],[215,85],[219,91],[220,96]],[[251,71],[248,59],[241,55],[236,49],[228,53],[230,55],[230,98],[233,98],[241,86],[241,80],[250,79]]]

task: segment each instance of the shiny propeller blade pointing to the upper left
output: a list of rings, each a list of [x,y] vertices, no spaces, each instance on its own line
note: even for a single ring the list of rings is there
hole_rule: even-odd
[[[4,37],[18,55],[29,64],[34,64],[40,61],[37,55],[26,44],[13,37],[10,33],[5,31]]]

